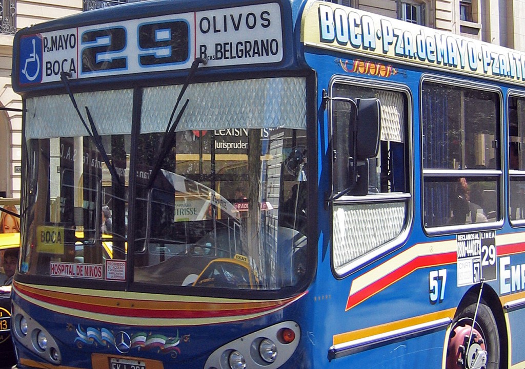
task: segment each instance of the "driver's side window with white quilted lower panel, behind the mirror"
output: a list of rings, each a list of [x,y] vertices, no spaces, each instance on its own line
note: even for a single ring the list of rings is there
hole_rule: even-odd
[[[409,219],[408,99],[399,90],[368,88],[356,81],[333,84],[332,96],[380,102],[380,143],[375,157],[354,161],[349,147],[349,112],[333,104],[333,263],[338,274],[373,249],[394,241]],[[369,143],[374,145],[373,142]],[[350,158],[350,159],[349,159]],[[356,171],[354,171],[354,162]],[[356,185],[352,186],[357,174]],[[338,196],[339,194],[342,194]]]

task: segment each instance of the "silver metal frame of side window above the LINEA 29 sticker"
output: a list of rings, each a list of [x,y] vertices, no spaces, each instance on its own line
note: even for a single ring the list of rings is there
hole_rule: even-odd
[[[444,234],[457,234],[457,233],[466,233],[466,232],[472,232],[472,231],[479,231],[479,230],[485,230],[485,229],[499,229],[503,226],[503,222],[505,221],[505,176],[503,176],[503,170],[502,170],[502,150],[501,150],[501,142],[503,135],[506,134],[503,132],[503,93],[500,88],[498,88],[496,85],[487,83],[488,81],[485,81],[485,83],[481,82],[475,82],[475,81],[468,81],[468,86],[465,86],[465,80],[457,80],[453,78],[448,77],[439,77],[437,75],[432,74],[426,74],[423,75],[421,80],[419,81],[419,167],[421,168],[421,214],[422,214],[422,227],[424,232],[427,235],[433,236],[433,235],[444,235]],[[499,113],[498,120],[496,122],[496,129],[495,129],[495,135],[496,135],[496,142],[497,142],[497,148],[496,148],[496,169],[461,169],[461,174],[465,177],[470,178],[479,178],[479,177],[497,177],[496,178],[496,184],[498,188],[497,192],[497,210],[499,211],[499,219],[496,221],[490,221],[490,222],[477,222],[477,223],[467,223],[467,224],[447,224],[447,225],[440,225],[440,226],[427,226],[425,225],[425,220],[423,214],[425,213],[425,177],[442,177],[442,178],[453,178],[458,177],[458,169],[434,169],[434,168],[424,168],[424,137],[423,137],[423,84],[424,83],[434,83],[434,84],[445,84],[449,86],[455,86],[456,88],[464,89],[467,88],[469,90],[476,90],[480,92],[489,92],[489,93],[495,93],[498,97],[497,104],[497,113]],[[498,111],[499,107],[499,111]]]

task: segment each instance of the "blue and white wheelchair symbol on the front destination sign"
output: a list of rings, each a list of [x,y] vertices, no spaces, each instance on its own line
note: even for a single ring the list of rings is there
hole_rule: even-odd
[[[42,39],[38,36],[20,40],[20,84],[42,80]]]

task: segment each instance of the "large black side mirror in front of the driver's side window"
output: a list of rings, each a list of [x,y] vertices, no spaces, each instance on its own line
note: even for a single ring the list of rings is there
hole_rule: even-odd
[[[381,104],[378,99],[372,98],[356,99],[355,104],[358,112],[355,120],[350,116],[352,134],[349,135],[348,152],[350,155],[355,153],[358,160],[373,158],[379,151]]]

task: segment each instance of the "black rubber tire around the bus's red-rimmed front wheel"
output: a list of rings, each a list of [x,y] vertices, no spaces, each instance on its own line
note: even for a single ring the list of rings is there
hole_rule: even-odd
[[[451,334],[458,326],[464,327],[465,325],[471,325],[475,312],[476,302],[472,302],[458,311],[452,323]],[[487,351],[487,369],[499,369],[501,344],[496,318],[494,318],[492,310],[490,310],[483,299],[479,302],[475,328],[485,341],[485,349]],[[447,356],[448,354],[449,353],[447,352]]]

